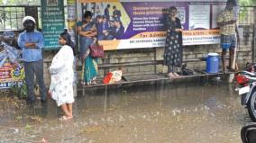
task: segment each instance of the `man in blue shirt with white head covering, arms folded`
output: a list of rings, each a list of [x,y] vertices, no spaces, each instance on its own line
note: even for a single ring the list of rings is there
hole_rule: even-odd
[[[35,20],[32,16],[23,18],[24,30],[18,38],[18,44],[23,49],[23,64],[25,80],[28,86],[28,103],[35,102],[34,75],[40,87],[41,103],[46,102],[46,88],[43,81],[43,35],[35,30]]]

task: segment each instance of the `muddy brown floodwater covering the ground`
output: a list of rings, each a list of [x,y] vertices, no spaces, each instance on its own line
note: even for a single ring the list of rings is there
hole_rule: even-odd
[[[241,143],[250,121],[233,85],[157,84],[78,94],[74,119],[46,105],[0,100],[0,143]]]

